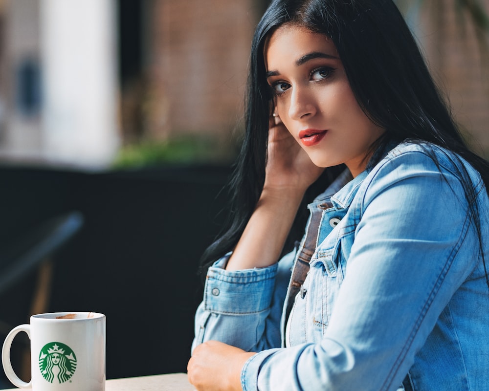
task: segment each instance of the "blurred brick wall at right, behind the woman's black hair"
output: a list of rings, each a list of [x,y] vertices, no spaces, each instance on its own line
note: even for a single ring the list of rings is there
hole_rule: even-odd
[[[489,12],[489,0],[480,2]],[[432,72],[474,151],[489,158],[488,33],[481,50],[468,15],[457,13],[453,0],[426,4],[417,35]]]

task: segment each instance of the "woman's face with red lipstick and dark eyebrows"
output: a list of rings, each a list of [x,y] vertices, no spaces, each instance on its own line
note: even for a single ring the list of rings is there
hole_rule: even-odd
[[[276,113],[312,162],[345,163],[354,176],[362,172],[369,147],[384,130],[358,106],[333,42],[285,24],[269,37],[264,54]]]

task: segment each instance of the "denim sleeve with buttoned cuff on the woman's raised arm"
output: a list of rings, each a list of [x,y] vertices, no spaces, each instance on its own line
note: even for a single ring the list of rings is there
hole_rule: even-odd
[[[269,267],[239,271],[224,270],[229,257],[207,271],[192,350],[208,340],[246,351],[279,347],[280,317],[294,254]]]

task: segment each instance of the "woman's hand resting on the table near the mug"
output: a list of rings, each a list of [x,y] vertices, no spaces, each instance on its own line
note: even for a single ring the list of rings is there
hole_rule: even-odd
[[[204,342],[187,364],[188,380],[199,391],[242,391],[241,369],[253,354],[218,341]]]

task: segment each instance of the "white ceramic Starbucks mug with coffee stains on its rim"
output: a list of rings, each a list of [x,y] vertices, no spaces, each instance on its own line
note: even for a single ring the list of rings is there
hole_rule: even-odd
[[[31,340],[31,381],[19,379],[10,347],[21,331]],[[15,327],[2,348],[3,369],[17,387],[33,391],[105,391],[105,315],[57,312],[33,315],[30,325]]]

